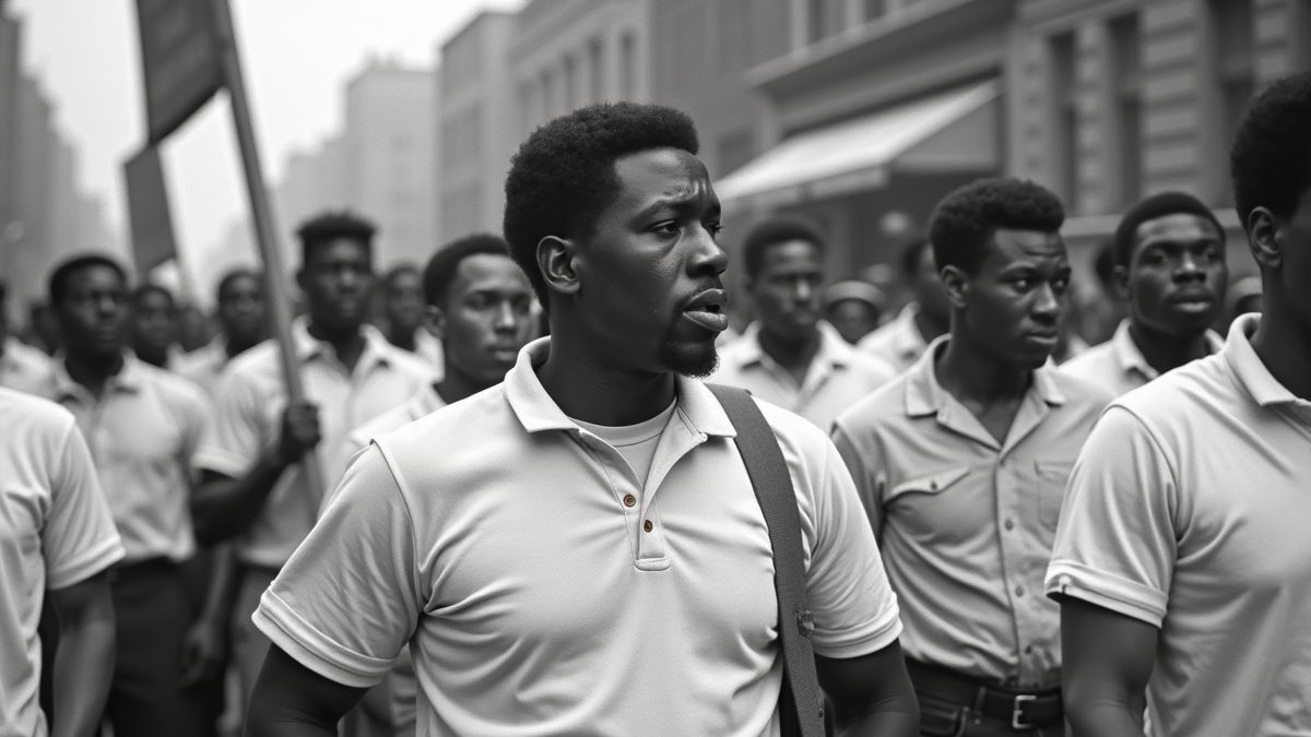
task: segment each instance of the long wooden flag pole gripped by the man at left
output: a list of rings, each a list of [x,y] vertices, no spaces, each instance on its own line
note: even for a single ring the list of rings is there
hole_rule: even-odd
[[[264,283],[269,294],[269,312],[273,317],[273,334],[278,341],[282,357],[282,380],[287,388],[287,401],[304,396],[300,371],[296,361],[295,342],[291,337],[291,304],[283,282],[282,253],[278,250],[277,228],[273,226],[273,207],[269,206],[269,191],[264,182],[264,168],[260,164],[260,148],[254,138],[254,123],[250,118],[250,101],[246,97],[245,79],[241,76],[241,58],[237,52],[236,28],[232,22],[232,9],[228,0],[214,0],[215,28],[218,30],[219,56],[223,60],[223,80],[228,88],[232,106],[232,123],[237,132],[237,148],[241,151],[241,169],[245,172],[246,194],[250,198],[250,215],[254,220],[256,243],[264,260]],[[309,487],[313,509],[317,515],[319,502],[326,493],[319,454],[311,448],[300,458],[300,472]]]

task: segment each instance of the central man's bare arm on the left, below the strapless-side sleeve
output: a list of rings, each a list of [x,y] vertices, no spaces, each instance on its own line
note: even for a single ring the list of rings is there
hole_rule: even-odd
[[[337,723],[364,691],[324,678],[278,645],[269,645],[246,713],[245,737],[337,737]]]

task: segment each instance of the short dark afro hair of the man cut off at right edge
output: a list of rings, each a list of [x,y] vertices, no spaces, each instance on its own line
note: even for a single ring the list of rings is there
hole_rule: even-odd
[[[1291,218],[1311,188],[1311,72],[1277,80],[1243,115],[1230,149],[1238,219],[1247,229],[1252,210]]]

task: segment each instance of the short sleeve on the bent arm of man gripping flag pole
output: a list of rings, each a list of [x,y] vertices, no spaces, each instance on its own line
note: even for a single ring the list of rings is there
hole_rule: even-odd
[[[214,410],[193,464],[232,477],[245,473],[264,450],[262,412],[253,382],[241,372],[225,371],[214,391]]]

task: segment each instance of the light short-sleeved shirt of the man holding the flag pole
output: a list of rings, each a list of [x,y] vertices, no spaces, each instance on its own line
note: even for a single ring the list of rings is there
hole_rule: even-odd
[[[342,450],[346,433],[383,412],[404,404],[433,378],[422,359],[387,342],[363,327],[364,351],[347,371],[332,345],[309,334],[304,319],[292,324],[305,397],[319,405],[321,439],[317,458],[324,484],[334,484],[350,455]],[[233,358],[215,389],[215,413],[197,454],[197,466],[240,477],[266,448],[277,445],[287,405],[278,346],[265,341]],[[279,568],[319,517],[326,489],[311,489],[294,464],[274,484],[250,528],[237,539],[237,556],[248,564]]]

